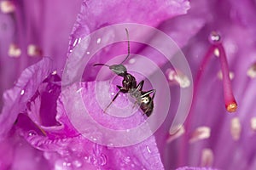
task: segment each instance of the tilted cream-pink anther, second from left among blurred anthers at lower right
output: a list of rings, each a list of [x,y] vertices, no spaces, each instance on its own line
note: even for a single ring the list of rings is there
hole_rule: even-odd
[[[208,139],[211,136],[211,128],[210,127],[197,127],[194,133],[189,139],[189,143],[194,143],[201,139]]]

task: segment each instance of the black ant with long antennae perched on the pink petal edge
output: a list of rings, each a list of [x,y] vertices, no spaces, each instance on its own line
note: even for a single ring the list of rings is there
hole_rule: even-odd
[[[125,31],[126,31],[127,42],[128,42],[128,54],[125,57],[125,59],[119,65],[105,65],[105,64],[95,64],[95,65],[93,65],[93,66],[96,66],[96,65],[108,66],[108,68],[111,71],[113,71],[115,74],[117,74],[119,77],[124,77],[124,79],[122,81],[123,87],[117,85],[117,88],[119,88],[119,92],[113,97],[112,101],[107,106],[105,111],[107,111],[108,107],[118,97],[119,93],[123,93],[123,94],[128,93],[128,94],[131,95],[131,97],[136,99],[136,102],[134,103],[134,105],[135,104],[140,105],[140,108],[144,112],[144,114],[146,114],[147,116],[150,116],[152,114],[153,109],[154,109],[153,99],[154,99],[154,94],[155,94],[156,90],[152,89],[152,90],[149,90],[147,92],[143,91],[144,80],[137,84],[136,78],[133,77],[130,73],[128,73],[126,68],[125,68],[125,65],[123,65],[125,60],[128,59],[128,57],[130,56],[129,32],[126,28],[125,28]],[[149,94],[152,94],[152,93],[153,93],[153,95],[152,95],[152,97],[150,97]]]

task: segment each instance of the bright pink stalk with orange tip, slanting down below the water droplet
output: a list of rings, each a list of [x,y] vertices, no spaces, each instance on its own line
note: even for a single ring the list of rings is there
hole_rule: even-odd
[[[234,98],[231,81],[230,81],[230,69],[223,45],[220,43],[216,45],[219,50],[219,61],[221,65],[221,71],[223,75],[223,86],[224,86],[224,102],[226,110],[229,112],[235,112],[237,109],[236,99]]]

